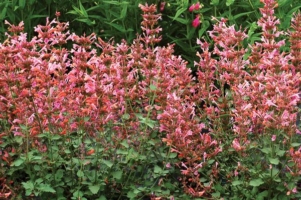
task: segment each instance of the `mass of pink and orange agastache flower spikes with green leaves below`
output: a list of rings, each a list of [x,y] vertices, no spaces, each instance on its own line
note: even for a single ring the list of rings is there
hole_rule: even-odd
[[[33,38],[6,21],[0,198],[298,199],[300,14],[280,31],[261,2],[255,45],[212,17],[195,75],[159,45],[156,5],[139,5],[132,44],[71,33],[59,12]]]

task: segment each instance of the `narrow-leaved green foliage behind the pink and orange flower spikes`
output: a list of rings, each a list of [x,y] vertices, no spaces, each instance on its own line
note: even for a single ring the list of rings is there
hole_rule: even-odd
[[[197,0],[166,0],[163,11],[160,4],[163,0],[0,0],[0,38],[5,38],[7,28],[4,20],[17,24],[25,23],[28,36],[35,35],[34,26],[45,24],[45,18],[55,17],[61,12],[61,21],[70,21],[70,30],[77,34],[95,32],[104,40],[114,37],[116,42],[122,38],[131,42],[140,32],[141,11],[138,4],[147,2],[158,4],[158,12],[163,14],[162,45],[176,43],[176,54],[181,54],[193,67],[197,50],[196,38],[205,37],[210,40],[206,30],[212,28],[211,16],[226,17],[230,24],[242,24],[248,28],[248,43],[259,40],[257,19],[261,16],[259,0],[201,0],[204,6],[198,10],[202,23],[192,26],[197,13],[189,12],[191,4]],[[301,7],[301,0],[278,0],[276,15],[281,20],[280,28],[287,29],[293,12]]]

